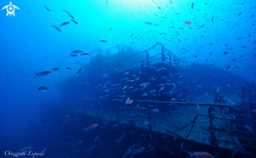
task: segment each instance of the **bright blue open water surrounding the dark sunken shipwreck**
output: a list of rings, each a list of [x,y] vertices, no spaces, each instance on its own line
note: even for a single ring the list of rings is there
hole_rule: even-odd
[[[9,3],[1,1],[0,7]],[[51,112],[52,116],[47,114],[46,117],[39,110],[39,101],[42,97],[62,97],[61,89],[55,88],[55,81],[75,74],[81,69],[77,63],[90,62],[96,55],[91,52],[96,48],[106,50],[125,44],[142,51],[161,42],[185,61],[212,64],[242,77],[243,82],[256,81],[254,1],[25,0],[12,3],[19,8],[15,8],[15,16],[6,16],[7,10],[0,10],[0,157],[4,157],[6,151],[13,152],[19,142],[24,142],[19,148],[33,146],[34,151],[47,149],[51,156],[63,156],[68,150],[68,142],[63,139],[74,137],[72,127],[62,129],[60,137],[53,137],[51,135],[58,130],[54,124],[38,126],[36,123],[61,117],[66,111]],[[62,9],[68,10],[78,24]],[[60,27],[63,22],[70,24]],[[59,26],[61,32],[52,25]],[[90,55],[70,57],[74,50]],[[55,67],[60,70],[35,77],[35,73],[51,71]],[[72,70],[65,67],[72,67]],[[193,81],[198,78],[193,72],[189,73]],[[225,80],[223,85],[229,83],[228,76]],[[222,84],[221,78],[217,81]],[[201,82],[207,83],[207,80]],[[242,85],[241,80],[232,82]],[[38,91],[41,86],[49,87],[49,91]],[[193,88],[196,86],[193,84]],[[235,94],[238,92],[233,92]],[[65,92],[65,96],[69,96],[69,92]],[[86,148],[90,149],[92,145]],[[66,153],[69,156],[72,150]]]

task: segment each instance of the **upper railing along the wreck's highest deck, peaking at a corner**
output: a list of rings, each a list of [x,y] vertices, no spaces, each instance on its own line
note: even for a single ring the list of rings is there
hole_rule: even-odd
[[[154,48],[156,46],[161,46],[161,48],[160,48],[161,52],[158,53],[158,54],[155,54],[155,51],[154,51]],[[125,48],[127,49],[128,46],[125,46],[125,45],[119,46],[119,45],[117,45],[115,47],[118,47],[119,52],[121,52],[123,49],[125,49]],[[113,47],[113,48],[115,48],[115,47]],[[113,48],[110,48],[110,49],[113,49]],[[110,49],[108,49],[106,52],[110,52],[109,51]],[[129,48],[129,49],[131,49],[131,48]],[[150,51],[152,51],[152,52],[150,52]],[[146,54],[146,58],[140,59],[139,61],[135,61],[136,55],[138,57],[138,55],[141,55],[142,53]],[[150,55],[152,55],[152,57],[150,57]],[[158,57],[159,55],[161,57]],[[157,59],[154,59],[154,58],[157,58]],[[120,72],[120,71],[125,71],[126,69],[130,69],[132,67],[151,66],[152,64],[159,63],[159,62],[165,62],[168,65],[170,65],[170,67],[172,67],[173,69],[176,69],[176,70],[186,69],[186,67],[191,66],[191,64],[192,64],[191,62],[184,61],[184,60],[181,60],[181,59],[177,58],[173,53],[171,53],[169,50],[167,50],[163,46],[162,43],[157,43],[157,44],[155,44],[154,46],[150,47],[147,50],[140,51],[140,52],[137,52],[137,53],[133,53],[131,55],[120,58],[118,60],[111,61],[111,62],[108,62],[108,63],[105,63],[105,64],[101,64],[101,65],[98,65],[98,66],[95,66],[95,67],[88,68],[88,69],[86,69],[86,72],[91,72],[91,71],[96,69],[97,72],[102,71],[102,73],[103,73],[104,70],[106,70],[106,67],[108,67],[108,69],[109,68],[112,68],[112,69],[109,70],[107,73],[112,74],[112,73],[117,73],[117,72]],[[121,69],[119,69],[118,71],[117,71],[117,69],[115,69],[117,66],[121,67]],[[79,76],[85,76],[85,75],[86,75],[86,73],[79,74]],[[69,80],[70,77],[74,77],[74,76],[75,75],[71,75],[71,76],[68,76],[68,77],[61,78],[61,79],[56,81],[56,84],[59,85],[63,81],[66,81],[67,79]]]

